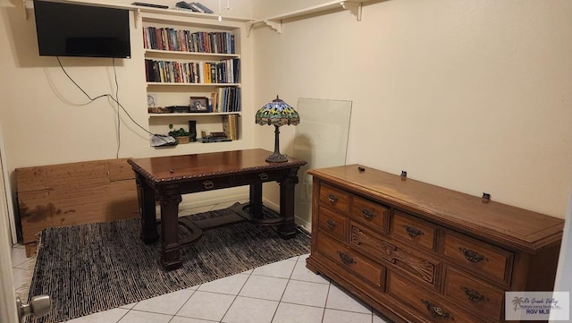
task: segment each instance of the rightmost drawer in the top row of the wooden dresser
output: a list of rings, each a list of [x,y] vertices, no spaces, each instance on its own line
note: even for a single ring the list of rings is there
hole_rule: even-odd
[[[509,285],[513,253],[451,231],[445,233],[445,256],[455,263]]]

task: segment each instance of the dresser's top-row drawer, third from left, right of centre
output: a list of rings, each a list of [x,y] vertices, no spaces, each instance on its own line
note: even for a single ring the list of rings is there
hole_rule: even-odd
[[[395,211],[391,219],[391,237],[435,250],[437,227],[418,217]]]

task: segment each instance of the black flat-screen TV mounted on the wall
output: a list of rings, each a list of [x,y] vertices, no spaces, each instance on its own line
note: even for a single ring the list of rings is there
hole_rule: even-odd
[[[34,0],[39,55],[130,58],[129,11]]]

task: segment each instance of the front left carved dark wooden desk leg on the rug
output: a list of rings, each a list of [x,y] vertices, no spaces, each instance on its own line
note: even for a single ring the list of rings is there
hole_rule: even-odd
[[[166,270],[181,268],[179,244],[179,203],[181,194],[177,185],[165,185],[159,190],[161,203],[161,265]]]

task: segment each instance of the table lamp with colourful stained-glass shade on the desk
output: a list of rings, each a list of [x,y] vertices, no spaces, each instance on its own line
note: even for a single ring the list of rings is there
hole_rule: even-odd
[[[272,102],[257,111],[257,123],[274,126],[274,152],[266,158],[267,162],[282,163],[288,161],[288,157],[280,153],[280,142],[278,127],[284,124],[298,125],[300,116],[293,107],[282,101],[278,96]]]

